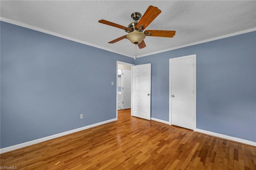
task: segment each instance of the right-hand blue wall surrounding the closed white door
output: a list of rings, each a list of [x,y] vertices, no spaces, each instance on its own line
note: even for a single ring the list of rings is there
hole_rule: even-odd
[[[256,142],[256,32],[135,60],[152,63],[151,117],[169,121],[169,59],[196,54],[196,128]]]

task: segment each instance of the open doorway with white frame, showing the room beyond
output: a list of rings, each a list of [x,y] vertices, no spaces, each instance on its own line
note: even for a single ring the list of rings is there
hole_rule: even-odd
[[[132,66],[134,64],[116,61],[116,119],[118,110],[131,108]]]

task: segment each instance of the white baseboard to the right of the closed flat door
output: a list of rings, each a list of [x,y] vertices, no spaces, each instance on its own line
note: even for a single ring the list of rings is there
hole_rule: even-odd
[[[219,134],[219,133],[215,133],[215,132],[210,132],[210,131],[202,130],[202,129],[198,129],[198,128],[196,129],[196,131],[200,132],[200,133],[204,133],[204,134],[209,134],[211,136],[216,136],[216,137],[219,137],[219,138],[224,138],[224,139],[232,140],[232,141],[235,141],[235,142],[240,142],[240,143],[256,146],[256,142],[253,142],[253,141],[250,141],[250,140],[236,138],[236,137],[233,137],[233,136],[228,136],[228,135],[225,135],[225,134]]]

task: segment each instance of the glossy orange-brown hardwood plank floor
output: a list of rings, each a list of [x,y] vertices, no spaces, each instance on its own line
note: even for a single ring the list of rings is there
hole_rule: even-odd
[[[255,170],[256,147],[131,117],[1,154],[18,170]]]

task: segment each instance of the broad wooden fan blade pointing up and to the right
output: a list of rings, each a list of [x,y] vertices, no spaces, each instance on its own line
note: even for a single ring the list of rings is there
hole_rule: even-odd
[[[161,10],[159,10],[157,7],[150,5],[138,22],[137,28],[143,25],[142,30],[144,30],[160,13]]]

